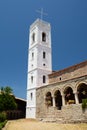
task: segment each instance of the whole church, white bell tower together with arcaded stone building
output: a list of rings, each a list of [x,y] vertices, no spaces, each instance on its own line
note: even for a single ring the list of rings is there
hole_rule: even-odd
[[[87,61],[52,72],[51,26],[37,19],[30,26],[26,118],[86,122]]]

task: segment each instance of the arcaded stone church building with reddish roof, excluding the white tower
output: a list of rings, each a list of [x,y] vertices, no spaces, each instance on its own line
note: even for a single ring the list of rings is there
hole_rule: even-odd
[[[49,84],[37,88],[37,118],[58,123],[87,122],[87,61],[49,75]]]

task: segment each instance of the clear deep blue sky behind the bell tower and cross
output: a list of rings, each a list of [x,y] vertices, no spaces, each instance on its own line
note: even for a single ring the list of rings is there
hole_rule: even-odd
[[[26,99],[29,27],[43,8],[51,24],[52,69],[87,60],[87,0],[0,0],[0,87]]]

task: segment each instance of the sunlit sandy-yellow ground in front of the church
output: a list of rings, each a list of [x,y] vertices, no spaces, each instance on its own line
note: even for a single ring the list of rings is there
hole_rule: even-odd
[[[9,121],[4,130],[87,130],[87,124],[44,123],[22,119]]]

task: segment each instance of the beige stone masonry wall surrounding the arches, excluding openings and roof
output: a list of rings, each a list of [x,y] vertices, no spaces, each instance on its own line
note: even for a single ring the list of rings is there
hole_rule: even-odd
[[[45,96],[47,92],[51,92],[52,96],[56,90],[60,90],[63,94],[67,86],[72,86],[73,91],[77,90],[77,84],[87,84],[87,76],[74,78],[67,81],[49,84],[37,89],[36,92],[36,117],[43,121],[57,121],[58,123],[70,122],[87,122],[87,111],[83,113],[81,104],[70,104],[62,106],[61,110],[56,107],[47,107],[45,104]]]

